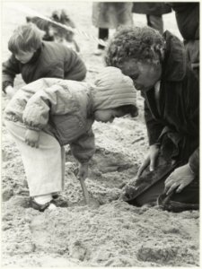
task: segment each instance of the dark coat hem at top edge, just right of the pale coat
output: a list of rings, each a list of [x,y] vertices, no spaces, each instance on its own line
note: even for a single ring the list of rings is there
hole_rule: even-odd
[[[134,2],[132,12],[147,15],[162,15],[165,13],[171,13],[171,7],[164,2]]]

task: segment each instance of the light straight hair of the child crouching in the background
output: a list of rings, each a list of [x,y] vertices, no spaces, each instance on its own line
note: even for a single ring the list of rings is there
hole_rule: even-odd
[[[13,54],[18,54],[20,51],[28,52],[40,48],[41,42],[42,31],[33,23],[28,23],[14,30],[8,41],[8,49]]]

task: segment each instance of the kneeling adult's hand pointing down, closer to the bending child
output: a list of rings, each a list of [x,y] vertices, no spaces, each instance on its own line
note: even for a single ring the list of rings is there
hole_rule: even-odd
[[[157,144],[151,145],[149,148],[149,153],[145,157],[145,161],[143,161],[141,167],[138,169],[137,178],[141,176],[142,172],[148,165],[150,165],[149,167],[150,171],[154,171],[155,162],[157,160],[158,155],[159,155],[159,145]]]

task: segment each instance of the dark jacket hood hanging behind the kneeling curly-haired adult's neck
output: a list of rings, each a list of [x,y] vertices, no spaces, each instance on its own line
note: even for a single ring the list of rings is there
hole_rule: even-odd
[[[169,30],[163,33],[166,40],[165,60],[162,63],[163,76],[168,81],[179,82],[186,74],[186,52],[185,48],[177,37]]]

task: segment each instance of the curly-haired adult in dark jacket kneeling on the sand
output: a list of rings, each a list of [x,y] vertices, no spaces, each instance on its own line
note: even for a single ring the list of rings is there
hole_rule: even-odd
[[[148,27],[123,28],[110,40],[105,60],[129,75],[145,98],[150,150],[137,176],[147,167],[154,171],[162,152],[176,163],[169,177],[151,187],[148,183],[136,204],[158,198],[160,204],[170,201],[165,209],[174,210],[176,203],[181,209],[198,207],[199,87],[180,39],[168,30],[161,35]]]

